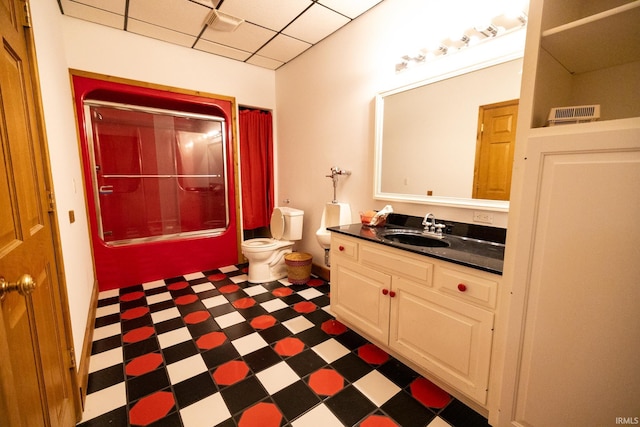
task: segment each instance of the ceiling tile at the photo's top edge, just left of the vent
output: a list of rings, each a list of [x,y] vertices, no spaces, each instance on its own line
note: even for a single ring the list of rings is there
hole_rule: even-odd
[[[189,0],[129,0],[129,17],[197,36],[210,8]]]

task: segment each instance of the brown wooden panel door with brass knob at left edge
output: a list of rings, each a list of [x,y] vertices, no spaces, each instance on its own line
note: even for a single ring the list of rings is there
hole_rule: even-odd
[[[26,7],[0,0],[0,425],[71,426],[75,366]]]

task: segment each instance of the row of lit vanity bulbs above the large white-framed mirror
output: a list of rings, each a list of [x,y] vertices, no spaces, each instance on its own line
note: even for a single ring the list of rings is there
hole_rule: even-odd
[[[526,24],[527,15],[522,11],[516,14],[503,13],[497,15],[486,24],[467,29],[460,37],[444,39],[434,48],[421,49],[421,53],[418,56],[412,57],[404,55],[401,57],[401,61],[396,64],[396,73],[404,71],[415,64],[426,62],[427,59],[450,55],[458,50],[473,46],[478,42],[494,39],[511,31],[518,30]]]

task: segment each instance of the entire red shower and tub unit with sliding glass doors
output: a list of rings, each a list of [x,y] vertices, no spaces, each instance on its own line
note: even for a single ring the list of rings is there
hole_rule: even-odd
[[[237,263],[233,101],[73,83],[100,290]]]

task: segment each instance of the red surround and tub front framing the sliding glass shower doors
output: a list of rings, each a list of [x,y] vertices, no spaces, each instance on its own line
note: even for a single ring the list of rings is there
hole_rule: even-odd
[[[79,70],[70,70],[70,76],[74,91],[87,215],[99,290],[122,288],[237,264],[241,259],[241,252],[237,200],[239,176],[236,168],[238,153],[235,142],[235,98],[168,88]],[[93,147],[91,138],[88,137],[92,133],[92,128],[85,120],[84,109],[85,101],[95,99],[96,94],[102,97],[101,101],[114,101],[121,95],[127,100],[140,99],[141,102],[147,103],[155,100],[159,108],[164,110],[180,110],[180,108],[167,108],[167,105],[188,106],[190,111],[187,113],[221,114],[224,117],[228,218],[226,229],[204,233],[183,233],[171,238],[137,239],[126,244],[113,244],[102,239],[98,217],[99,195],[93,185],[96,175],[91,153]],[[211,111],[215,111],[216,114]]]

